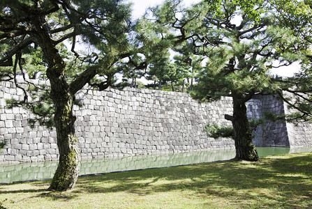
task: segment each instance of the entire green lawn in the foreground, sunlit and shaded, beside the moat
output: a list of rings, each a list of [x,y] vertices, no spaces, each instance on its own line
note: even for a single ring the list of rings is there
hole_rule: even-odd
[[[312,153],[0,186],[0,208],[312,208]]]

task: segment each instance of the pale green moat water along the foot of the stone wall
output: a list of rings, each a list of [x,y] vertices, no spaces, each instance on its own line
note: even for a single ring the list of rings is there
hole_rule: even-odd
[[[312,152],[308,148],[257,148],[260,157],[282,155],[288,153]],[[83,160],[80,175],[92,173],[110,173],[115,171],[131,171],[157,167],[172,167],[182,164],[196,164],[230,160],[235,157],[235,150],[200,151],[174,153],[168,155],[140,155],[120,158],[104,158]],[[14,183],[23,180],[42,180],[52,178],[57,169],[57,162],[22,163],[0,165],[0,184]]]

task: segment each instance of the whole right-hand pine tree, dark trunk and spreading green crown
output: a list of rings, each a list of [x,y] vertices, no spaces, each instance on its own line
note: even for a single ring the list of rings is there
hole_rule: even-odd
[[[269,1],[211,0],[191,8],[179,3],[165,1],[154,8],[155,24],[171,27],[161,36],[172,41],[176,52],[205,61],[191,95],[200,102],[232,98],[233,114],[225,119],[232,121],[236,158],[256,161],[246,102],[292,88],[294,82],[276,79],[270,70],[302,59],[302,40],[281,25]]]

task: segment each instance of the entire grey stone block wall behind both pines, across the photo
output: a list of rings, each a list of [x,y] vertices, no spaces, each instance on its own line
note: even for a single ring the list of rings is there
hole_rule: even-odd
[[[27,123],[32,117],[29,111],[22,107],[6,108],[6,99],[22,97],[22,90],[12,82],[0,83],[0,142],[6,141],[5,148],[0,150],[0,163],[57,160],[56,132],[40,125],[31,129]],[[74,110],[83,158],[234,148],[232,139],[212,139],[203,132],[207,123],[231,125],[224,119],[224,114],[232,114],[231,98],[198,104],[186,93],[133,88],[85,88],[76,98],[82,103]],[[248,102],[248,117],[261,118],[264,110],[283,109],[283,102],[273,97],[257,97]],[[255,130],[254,143],[312,146],[311,125],[291,127],[288,133],[290,126],[268,121]]]

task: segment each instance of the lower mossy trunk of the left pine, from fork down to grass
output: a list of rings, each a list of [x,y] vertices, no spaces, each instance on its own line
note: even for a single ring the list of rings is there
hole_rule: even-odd
[[[75,136],[73,95],[65,79],[50,77],[51,98],[55,105],[54,122],[57,130],[59,165],[54,174],[50,190],[72,189],[80,171],[80,150]]]

